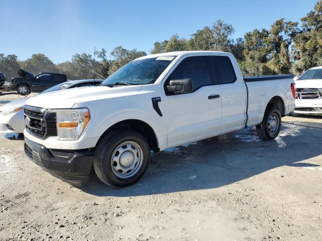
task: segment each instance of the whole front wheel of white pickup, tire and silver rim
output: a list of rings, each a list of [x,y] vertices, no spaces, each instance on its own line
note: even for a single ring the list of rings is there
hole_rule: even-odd
[[[95,150],[94,170],[105,184],[124,187],[144,175],[149,159],[145,138],[137,132],[123,131],[101,140]]]

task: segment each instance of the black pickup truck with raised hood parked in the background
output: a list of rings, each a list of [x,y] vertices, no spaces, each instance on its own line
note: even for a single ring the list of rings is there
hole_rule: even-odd
[[[41,92],[67,80],[65,74],[42,72],[33,75],[23,69],[18,71],[18,75],[20,77],[12,78],[11,83],[8,83],[7,87],[17,90],[18,94],[21,95]]]

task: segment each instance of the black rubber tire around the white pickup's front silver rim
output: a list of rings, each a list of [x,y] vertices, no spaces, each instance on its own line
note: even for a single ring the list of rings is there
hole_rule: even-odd
[[[136,168],[136,173],[134,173],[133,176],[123,178],[120,177],[122,173],[118,173],[118,171],[115,170],[117,167],[114,167],[115,162],[112,162],[112,156],[116,156],[115,151],[117,153],[117,150],[120,149],[120,145],[122,145],[125,142],[137,144],[140,148],[138,148],[140,150],[139,152],[141,152],[140,156],[143,159],[139,158],[141,162],[137,164],[138,168]],[[121,146],[121,148],[123,148],[124,146]],[[133,146],[130,145],[130,147],[133,149]],[[119,159],[121,159],[121,157]],[[149,161],[150,148],[145,138],[137,132],[119,131],[110,133],[103,137],[103,139],[96,147],[94,158],[94,170],[98,178],[106,185],[112,187],[125,187],[134,184],[144,175],[144,173],[147,170]],[[124,175],[126,174],[127,173],[124,173]]]

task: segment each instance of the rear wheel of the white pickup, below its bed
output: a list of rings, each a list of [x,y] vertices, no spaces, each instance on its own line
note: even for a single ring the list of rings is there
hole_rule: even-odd
[[[274,132],[271,129],[272,126],[270,126],[270,118],[273,118],[273,122],[277,121],[276,124],[276,130],[274,129]],[[256,126],[256,131],[258,136],[262,140],[274,140],[278,134],[280,133],[282,125],[282,118],[281,113],[276,107],[271,107],[265,111],[263,121],[260,125]]]

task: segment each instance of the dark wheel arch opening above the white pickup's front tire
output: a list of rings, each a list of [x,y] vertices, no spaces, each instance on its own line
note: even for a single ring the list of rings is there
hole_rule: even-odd
[[[141,121],[140,119],[124,119],[123,121],[113,124],[101,135],[96,145],[98,145],[106,135],[112,132],[116,133],[119,130],[136,131],[140,133],[146,138],[150,149],[154,152],[159,152],[159,144],[154,130],[149,124]]]

